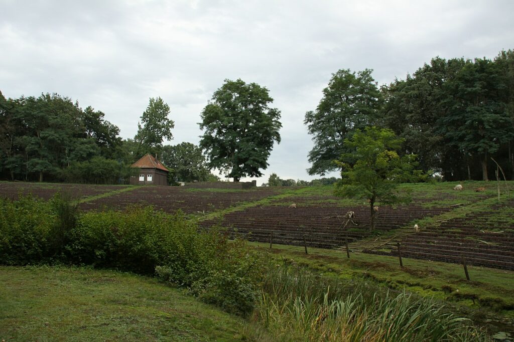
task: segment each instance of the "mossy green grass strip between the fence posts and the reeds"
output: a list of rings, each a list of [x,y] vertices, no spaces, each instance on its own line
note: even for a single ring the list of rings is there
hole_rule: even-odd
[[[262,250],[269,244],[250,242]],[[424,296],[479,308],[488,307],[514,318],[514,272],[469,266],[467,281],[462,265],[338,250],[309,248],[305,254],[299,246],[273,245],[271,253],[286,258],[327,276],[341,278],[365,277],[394,289],[406,289]]]

